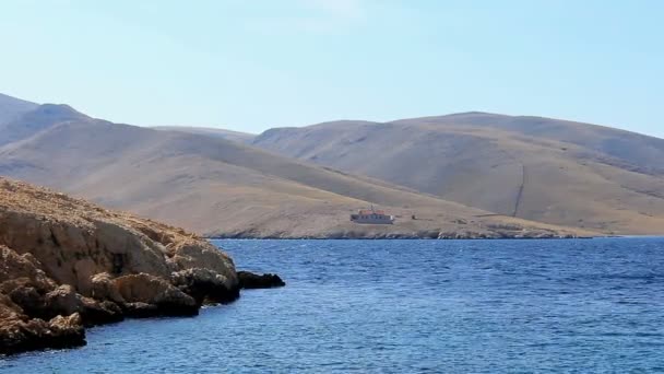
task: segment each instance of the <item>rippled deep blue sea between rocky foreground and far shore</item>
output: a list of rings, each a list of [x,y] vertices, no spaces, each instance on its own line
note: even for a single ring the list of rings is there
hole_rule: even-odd
[[[664,371],[664,238],[216,241],[287,287],[93,328],[15,373]]]

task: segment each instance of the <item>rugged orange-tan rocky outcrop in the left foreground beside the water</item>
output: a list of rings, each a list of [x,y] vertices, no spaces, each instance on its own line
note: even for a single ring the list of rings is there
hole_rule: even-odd
[[[208,241],[5,178],[0,252],[0,354],[81,346],[84,326],[239,296],[233,260]]]

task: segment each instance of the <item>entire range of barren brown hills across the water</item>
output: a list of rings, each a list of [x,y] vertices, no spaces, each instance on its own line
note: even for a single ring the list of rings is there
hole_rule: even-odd
[[[2,142],[0,135],[0,174],[210,235],[505,234],[486,230],[500,224],[485,217],[532,230],[577,227],[581,235],[661,232],[664,179],[656,163],[642,162],[659,156],[659,142],[626,157],[602,127],[537,119],[523,130],[523,118],[533,117],[493,116],[329,121],[270,129],[247,142],[111,124],[47,104],[10,122],[24,131],[20,137]],[[567,141],[588,131],[604,138]],[[401,219],[392,227],[348,222],[369,204],[427,220]]]

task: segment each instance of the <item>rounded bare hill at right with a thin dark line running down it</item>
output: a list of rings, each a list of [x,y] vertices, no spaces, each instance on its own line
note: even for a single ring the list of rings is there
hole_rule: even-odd
[[[664,140],[627,131],[471,113],[272,129],[253,144],[506,215],[664,232]]]

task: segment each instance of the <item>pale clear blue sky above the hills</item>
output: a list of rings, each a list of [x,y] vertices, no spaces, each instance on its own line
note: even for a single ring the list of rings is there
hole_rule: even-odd
[[[484,110],[664,137],[664,1],[4,0],[0,92],[258,132]]]

